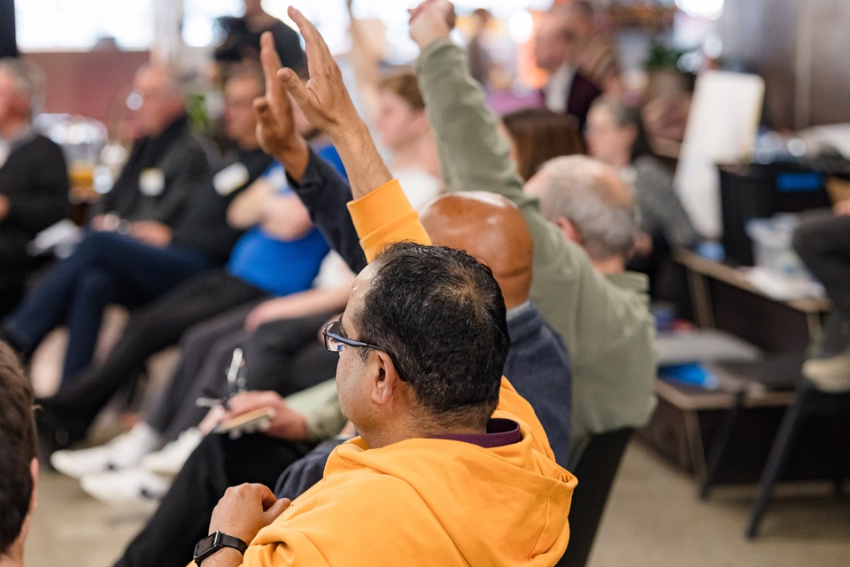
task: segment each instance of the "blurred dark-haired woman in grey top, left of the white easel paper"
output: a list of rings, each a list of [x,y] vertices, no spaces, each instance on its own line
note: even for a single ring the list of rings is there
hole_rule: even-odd
[[[673,189],[673,175],[653,157],[637,109],[614,98],[598,98],[588,115],[585,138],[591,157],[619,170],[635,191],[643,233],[638,256],[649,257],[660,244],[667,251],[699,244],[699,234]]]

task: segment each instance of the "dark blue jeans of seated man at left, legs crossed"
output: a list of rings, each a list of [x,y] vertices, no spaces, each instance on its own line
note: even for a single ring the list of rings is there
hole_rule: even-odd
[[[4,330],[32,352],[59,325],[68,328],[63,384],[91,361],[105,308],[156,299],[213,262],[179,246],[157,248],[115,232],[90,232],[4,321]]]

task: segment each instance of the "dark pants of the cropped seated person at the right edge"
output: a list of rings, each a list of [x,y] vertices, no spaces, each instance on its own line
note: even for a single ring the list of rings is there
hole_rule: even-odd
[[[842,353],[850,347],[850,215],[808,215],[794,231],[793,246],[835,306],[824,327],[822,353]]]

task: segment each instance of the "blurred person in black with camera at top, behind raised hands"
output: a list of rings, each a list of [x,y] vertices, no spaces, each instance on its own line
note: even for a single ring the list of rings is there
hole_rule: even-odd
[[[273,35],[274,48],[286,66],[299,69],[305,65],[301,39],[294,29],[263,10],[262,0],[244,0],[244,6],[241,17],[219,19],[225,37],[215,48],[213,58],[226,67],[224,76],[228,74],[227,67],[234,63],[259,62],[259,37],[264,32]]]

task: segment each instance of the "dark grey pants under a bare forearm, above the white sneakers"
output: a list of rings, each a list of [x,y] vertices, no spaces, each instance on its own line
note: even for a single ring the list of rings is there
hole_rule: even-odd
[[[244,330],[254,307],[236,307],[202,322],[181,340],[181,361],[174,377],[145,414],[144,421],[168,440],[194,427],[206,415],[195,400],[207,390],[227,393],[225,369],[233,350],[243,349],[250,390],[274,390],[282,396],[300,392],[333,377],[339,357],[319,342],[322,323],[333,313],[281,319]]]

